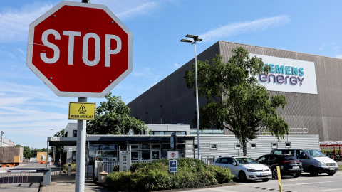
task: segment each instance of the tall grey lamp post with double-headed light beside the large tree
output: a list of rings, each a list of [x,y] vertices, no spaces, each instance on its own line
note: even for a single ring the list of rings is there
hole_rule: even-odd
[[[202,41],[202,38],[198,38],[198,36],[187,34],[189,39],[182,39],[181,42],[191,43],[195,45],[195,81],[196,81],[196,119],[197,119],[197,149],[198,149],[198,159],[201,159],[201,147],[199,146],[199,105],[198,105],[198,85],[197,85],[197,55],[196,55],[196,42]]]

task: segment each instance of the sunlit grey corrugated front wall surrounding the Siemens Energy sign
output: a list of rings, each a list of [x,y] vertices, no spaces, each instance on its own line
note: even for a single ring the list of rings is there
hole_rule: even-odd
[[[279,58],[306,60],[315,63],[318,94],[273,92],[270,95],[285,95],[287,105],[279,114],[289,127],[306,127],[309,134],[318,134],[321,141],[342,139],[342,60],[319,55],[296,53],[288,50],[249,46],[219,41],[220,54],[224,60],[232,55],[231,50],[239,46],[249,53]]]

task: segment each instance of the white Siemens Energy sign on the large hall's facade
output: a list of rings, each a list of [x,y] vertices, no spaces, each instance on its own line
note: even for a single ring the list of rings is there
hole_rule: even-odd
[[[315,63],[306,60],[276,58],[249,54],[262,58],[271,68],[269,74],[260,73],[258,80],[267,90],[317,94]]]

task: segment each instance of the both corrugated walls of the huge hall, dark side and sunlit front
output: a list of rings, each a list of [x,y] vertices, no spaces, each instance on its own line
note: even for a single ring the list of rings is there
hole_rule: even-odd
[[[306,60],[315,63],[318,94],[294,92],[273,92],[270,95],[283,94],[288,104],[279,114],[288,122],[289,127],[308,128],[309,134],[318,134],[321,141],[342,139],[342,60],[319,55],[296,53],[288,50],[249,46],[240,43],[218,41],[204,50],[198,60],[211,60],[216,54],[223,55],[224,60],[232,55],[233,48],[242,46],[249,53],[273,57]],[[147,124],[190,124],[195,119],[194,90],[187,89],[184,75],[190,70],[194,60],[190,60],[157,85],[128,104],[130,115]],[[205,104],[199,98],[199,106]]]

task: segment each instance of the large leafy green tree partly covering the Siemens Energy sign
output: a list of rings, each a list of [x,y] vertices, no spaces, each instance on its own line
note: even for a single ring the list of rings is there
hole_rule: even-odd
[[[200,128],[229,129],[242,144],[244,156],[247,156],[247,142],[257,138],[261,129],[278,140],[284,138],[289,133],[289,125],[276,110],[285,107],[286,98],[284,95],[270,97],[256,78],[269,70],[261,58],[249,58],[247,50],[241,47],[232,50],[227,63],[221,55],[212,58],[212,65],[207,60],[198,61],[198,92],[207,99],[199,109]],[[185,81],[188,88],[195,89],[195,65],[192,71],[185,72]]]

